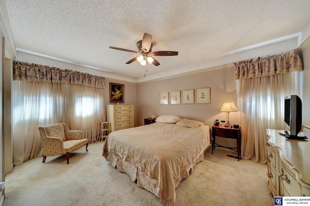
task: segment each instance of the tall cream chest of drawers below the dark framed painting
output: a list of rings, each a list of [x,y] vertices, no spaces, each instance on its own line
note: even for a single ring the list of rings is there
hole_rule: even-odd
[[[107,121],[110,132],[134,127],[134,104],[107,104]]]

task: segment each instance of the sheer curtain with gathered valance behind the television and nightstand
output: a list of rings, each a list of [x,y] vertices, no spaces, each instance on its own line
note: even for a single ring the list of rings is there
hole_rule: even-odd
[[[282,71],[279,70],[278,62],[270,60],[273,57],[268,57],[267,60],[251,59],[248,62],[238,63],[243,66],[242,70],[244,71],[236,71],[236,74],[241,71],[239,74],[247,76],[247,78],[237,80],[237,103],[240,111],[239,122],[242,128],[241,148],[242,157],[245,159],[266,163],[267,135],[265,130],[268,128],[283,130],[284,97],[293,94],[301,97],[303,72],[294,72],[294,70],[301,70],[301,62],[295,54],[290,54],[290,56],[292,62],[294,58],[294,63],[283,58],[284,61],[282,59],[280,62],[284,65]],[[278,56],[275,56],[276,58]],[[285,63],[287,67],[285,67]],[[250,64],[255,64],[254,72],[249,69]],[[263,64],[268,64],[266,68],[263,68],[266,69],[266,73],[263,73],[261,67]],[[274,64],[273,67],[269,67],[270,64]]]

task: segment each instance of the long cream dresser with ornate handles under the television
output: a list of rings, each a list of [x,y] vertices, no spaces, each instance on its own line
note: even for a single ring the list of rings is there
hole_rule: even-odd
[[[270,195],[310,196],[310,133],[307,140],[294,140],[281,130],[266,131]]]

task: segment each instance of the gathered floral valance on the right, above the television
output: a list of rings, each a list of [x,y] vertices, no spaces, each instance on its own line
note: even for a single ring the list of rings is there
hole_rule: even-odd
[[[234,78],[253,78],[302,71],[301,60],[295,51],[234,62]]]

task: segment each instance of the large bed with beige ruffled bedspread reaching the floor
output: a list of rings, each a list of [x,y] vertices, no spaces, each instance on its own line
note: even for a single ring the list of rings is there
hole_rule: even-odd
[[[203,160],[212,137],[209,126],[200,121],[157,119],[153,124],[111,132],[102,155],[138,186],[159,197],[164,206],[173,206],[175,189]]]

